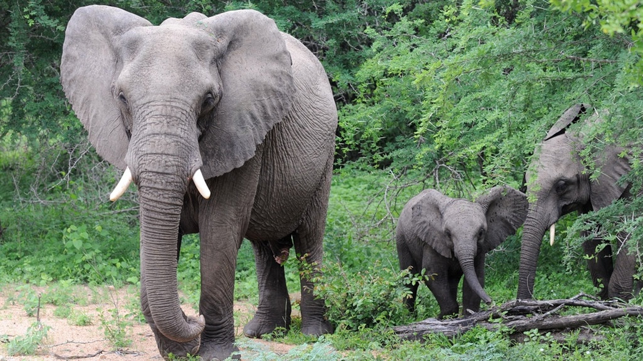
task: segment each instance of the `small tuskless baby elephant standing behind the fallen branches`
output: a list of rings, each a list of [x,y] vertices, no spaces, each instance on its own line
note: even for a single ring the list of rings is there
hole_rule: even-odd
[[[408,201],[397,222],[395,240],[401,269],[426,270],[426,285],[440,304],[439,319],[458,313],[458,283],[464,273],[463,310],[478,312],[484,291],[485,254],[525,221],[527,196],[509,186],[492,188],[475,202],[426,189]],[[406,306],[415,309],[417,286]]]

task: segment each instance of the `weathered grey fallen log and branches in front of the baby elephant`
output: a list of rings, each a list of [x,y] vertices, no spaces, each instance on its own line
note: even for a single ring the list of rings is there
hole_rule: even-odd
[[[584,299],[582,299],[584,298]],[[570,307],[593,308],[597,312],[559,315]],[[472,313],[455,319],[426,319],[420,322],[393,328],[396,335],[407,340],[421,340],[430,333],[442,333],[453,337],[475,326],[487,330],[510,328],[513,333],[529,330],[570,330],[593,324],[603,324],[623,316],[641,316],[643,307],[617,301],[598,301],[595,297],[578,294],[570,299],[549,301],[516,299],[494,306],[483,312]]]

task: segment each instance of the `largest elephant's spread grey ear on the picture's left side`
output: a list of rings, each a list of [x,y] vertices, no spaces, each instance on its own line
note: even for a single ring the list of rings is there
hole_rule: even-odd
[[[129,139],[113,94],[122,63],[114,42],[123,33],[150,22],[119,8],[90,5],[78,8],[67,24],[60,60],[60,82],[96,152],[125,168]]]

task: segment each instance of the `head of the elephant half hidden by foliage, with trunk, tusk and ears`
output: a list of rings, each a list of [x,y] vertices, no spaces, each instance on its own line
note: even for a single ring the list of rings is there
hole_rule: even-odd
[[[579,123],[584,115],[588,119]],[[622,148],[608,145],[595,155],[595,165],[601,170],[595,180],[590,180],[590,170],[579,155],[583,148],[583,130],[597,121],[601,118],[592,107],[575,105],[565,111],[542,145],[536,148],[536,157],[525,174],[527,195],[535,197],[536,201],[530,203],[523,227],[519,299],[532,298],[540,245],[547,229],[551,229],[553,242],[554,224],[558,218],[572,211],[585,213],[600,209],[626,193],[628,184],[618,182],[630,170],[628,157],[619,156]],[[581,127],[570,129],[574,123]]]

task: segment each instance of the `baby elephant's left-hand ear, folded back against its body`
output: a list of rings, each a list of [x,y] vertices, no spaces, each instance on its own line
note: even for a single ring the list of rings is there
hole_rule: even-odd
[[[451,200],[435,189],[426,189],[414,197],[412,204],[413,233],[446,258],[453,258],[453,244],[442,230],[442,207]]]

